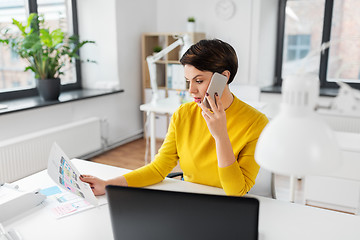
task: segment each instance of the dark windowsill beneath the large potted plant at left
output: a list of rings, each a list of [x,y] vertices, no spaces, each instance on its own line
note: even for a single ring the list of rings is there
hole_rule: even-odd
[[[47,107],[62,103],[84,100],[88,98],[100,97],[109,94],[124,92],[120,90],[95,90],[95,89],[79,89],[62,92],[58,101],[44,101],[39,96],[20,98],[16,100],[2,101],[0,105],[6,105],[7,108],[0,109],[0,115],[19,112],[29,109]]]

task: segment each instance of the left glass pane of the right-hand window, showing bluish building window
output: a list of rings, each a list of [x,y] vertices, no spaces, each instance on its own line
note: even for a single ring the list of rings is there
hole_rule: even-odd
[[[325,0],[288,0],[282,78],[299,71],[319,72]],[[309,54],[310,53],[310,54]]]

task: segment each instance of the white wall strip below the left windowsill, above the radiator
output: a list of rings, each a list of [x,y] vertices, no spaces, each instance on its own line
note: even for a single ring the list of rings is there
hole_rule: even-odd
[[[0,141],[97,116],[107,119],[110,126],[108,140],[115,143],[141,133],[142,123],[138,116],[129,115],[129,122],[123,120],[124,110],[118,103],[124,101],[124,94],[117,93],[2,115]]]

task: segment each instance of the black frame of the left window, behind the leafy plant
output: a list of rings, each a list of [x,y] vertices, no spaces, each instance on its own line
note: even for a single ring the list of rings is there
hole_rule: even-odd
[[[37,0],[27,0],[28,1],[28,13],[37,13]],[[79,27],[78,27],[78,17],[77,17],[77,0],[68,0],[71,3],[71,14],[72,14],[72,28],[73,34],[79,36]],[[78,55],[80,56],[79,52]],[[78,90],[82,89],[82,81],[81,81],[81,68],[80,68],[80,60],[75,59],[75,69],[76,69],[76,82],[69,83],[65,85],[61,85],[61,92]],[[30,89],[21,89],[0,93],[0,101],[6,100],[15,100],[19,98],[26,98],[38,95],[38,91],[35,88]]]

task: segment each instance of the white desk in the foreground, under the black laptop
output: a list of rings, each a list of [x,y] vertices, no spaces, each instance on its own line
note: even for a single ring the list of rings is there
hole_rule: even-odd
[[[128,172],[83,160],[73,160],[81,173],[111,178]],[[45,171],[16,182],[22,188],[34,189],[53,186]],[[153,189],[224,194],[222,189],[166,179]],[[102,196],[104,197],[104,196]],[[359,240],[360,217],[312,208],[264,197],[260,201],[260,238],[264,240],[327,239]],[[241,214],[241,213],[239,213]],[[62,219],[55,219],[46,206],[39,206],[4,223],[6,229],[15,228],[24,240],[98,240],[113,239],[108,205],[100,206]]]

